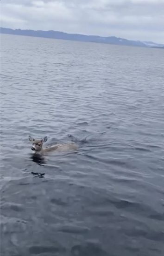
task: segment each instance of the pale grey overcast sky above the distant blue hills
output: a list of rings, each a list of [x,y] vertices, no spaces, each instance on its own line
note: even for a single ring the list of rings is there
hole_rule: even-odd
[[[1,0],[1,27],[164,44],[164,0]]]

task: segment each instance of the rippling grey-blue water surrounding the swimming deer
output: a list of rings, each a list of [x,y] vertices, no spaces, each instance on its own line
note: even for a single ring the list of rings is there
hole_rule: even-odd
[[[163,256],[163,50],[1,44],[2,255]],[[28,135],[79,150],[38,159]]]

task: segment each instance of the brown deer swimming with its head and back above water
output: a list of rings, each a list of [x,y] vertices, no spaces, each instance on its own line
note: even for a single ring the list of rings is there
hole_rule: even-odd
[[[41,154],[44,155],[47,152],[50,151],[57,151],[57,152],[63,152],[63,151],[69,151],[69,150],[76,150],[77,145],[74,142],[66,142],[63,144],[56,144],[54,146],[43,148],[43,143],[47,141],[47,136],[45,136],[43,139],[36,140],[29,136],[29,141],[32,142],[32,151],[35,154]]]

